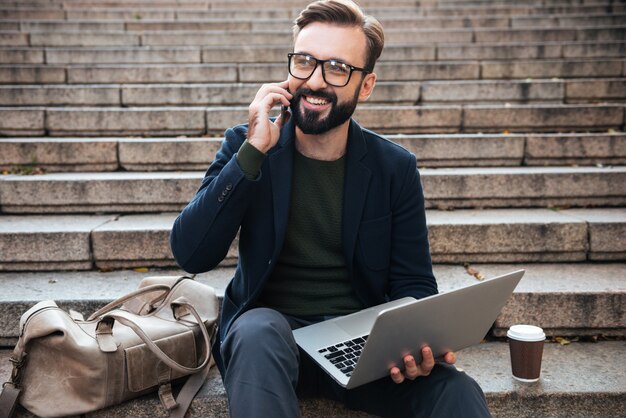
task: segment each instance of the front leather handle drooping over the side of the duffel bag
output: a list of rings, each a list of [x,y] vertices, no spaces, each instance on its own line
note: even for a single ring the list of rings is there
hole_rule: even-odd
[[[130,318],[132,314],[129,314],[125,311],[108,313],[98,322],[98,325],[96,326],[96,340],[98,341],[100,349],[104,352],[112,352],[117,350],[117,344],[113,339],[113,324],[115,321],[118,321],[120,324],[126,325],[127,327],[132,329],[135,334],[137,334],[137,336],[141,338],[141,340],[146,344],[146,347],[148,347],[148,349],[152,351],[152,353],[154,353],[154,355],[157,356],[159,360],[168,365],[170,368],[185,374],[199,372],[207,364],[209,364],[209,361],[211,360],[211,341],[215,336],[215,328],[212,330],[213,335],[209,336],[209,332],[204,325],[204,321],[202,321],[202,318],[198,314],[198,311],[196,311],[196,308],[194,308],[193,305],[182,296],[172,301],[170,306],[174,311],[174,317],[176,319],[179,319],[180,317],[185,316],[187,313],[190,312],[198,322],[198,326],[200,327],[200,331],[202,332],[204,346],[206,348],[205,357],[199,366],[187,367],[173,360],[171,357],[165,354],[141,329],[141,327]],[[182,307],[187,309],[184,314],[181,312]]]

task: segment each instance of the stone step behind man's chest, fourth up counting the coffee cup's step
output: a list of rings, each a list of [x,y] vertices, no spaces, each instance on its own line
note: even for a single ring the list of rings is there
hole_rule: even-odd
[[[0,176],[3,213],[180,211],[202,172],[52,173]],[[626,206],[626,167],[425,168],[434,209]]]

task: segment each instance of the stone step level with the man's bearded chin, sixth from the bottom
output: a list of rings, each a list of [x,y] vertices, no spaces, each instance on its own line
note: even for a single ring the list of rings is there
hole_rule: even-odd
[[[243,106],[0,107],[0,136],[220,135],[247,116]],[[624,105],[364,105],[355,118],[385,134],[621,131]]]

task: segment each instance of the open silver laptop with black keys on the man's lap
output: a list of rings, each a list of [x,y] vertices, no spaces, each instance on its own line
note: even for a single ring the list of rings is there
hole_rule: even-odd
[[[403,298],[298,328],[296,343],[341,386],[389,376],[421,347],[435,357],[480,343],[524,275],[514,271],[423,299]]]

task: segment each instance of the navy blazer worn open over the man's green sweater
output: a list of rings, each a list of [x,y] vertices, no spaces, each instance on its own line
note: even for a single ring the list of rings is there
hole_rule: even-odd
[[[172,228],[172,252],[190,273],[215,268],[239,231],[239,260],[224,296],[220,340],[239,315],[255,306],[283,245],[294,152],[292,120],[254,180],[245,177],[236,159],[247,125],[228,129],[200,189]],[[345,173],[343,252],[363,305],[437,293],[415,156],[352,120]],[[219,356],[217,360],[221,365]]]

